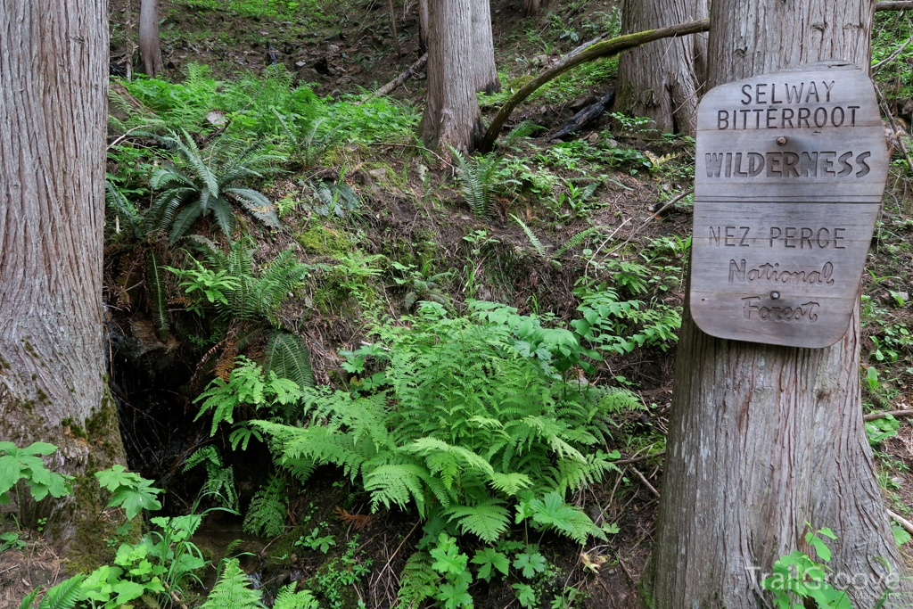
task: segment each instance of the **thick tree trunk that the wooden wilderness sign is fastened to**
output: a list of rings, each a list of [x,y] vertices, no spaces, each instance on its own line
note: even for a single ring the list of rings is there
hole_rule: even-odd
[[[824,58],[866,67],[873,9],[871,0],[717,0],[708,87]],[[652,606],[764,606],[761,573],[793,550],[814,556],[806,522],[837,535],[832,582],[858,609],[876,605],[888,572],[895,582],[903,574],[862,420],[858,303],[826,349],[712,338],[686,310],[645,573]],[[910,606],[899,593],[884,606]]]

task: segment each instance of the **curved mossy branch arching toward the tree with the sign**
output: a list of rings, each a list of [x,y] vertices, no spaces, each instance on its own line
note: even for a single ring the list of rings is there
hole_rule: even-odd
[[[561,59],[561,61],[559,61],[556,65],[543,71],[538,77],[530,80],[526,86],[524,86],[522,89],[519,89],[519,91],[510,96],[510,99],[507,100],[507,103],[505,103],[501,109],[498,110],[498,114],[496,114],[494,120],[491,121],[491,125],[488,127],[488,131],[485,133],[485,139],[479,146],[479,150],[481,152],[490,151],[495,142],[498,140],[498,133],[501,132],[501,127],[504,125],[504,121],[507,121],[510,113],[514,110],[514,108],[516,108],[521,101],[526,100],[528,97],[530,97],[530,95],[535,92],[536,89],[539,89],[542,85],[549,82],[550,80],[558,78],[564,72],[567,72],[572,68],[576,68],[577,66],[588,61],[593,61],[593,59],[612,57],[624,50],[640,47],[641,45],[645,45],[648,42],[653,42],[654,40],[660,40],[662,38],[675,36],[687,36],[688,34],[707,32],[709,29],[709,19],[689,21],[688,23],[679,24],[677,26],[649,29],[644,32],[626,34],[624,36],[610,38],[609,40],[603,40],[603,42],[597,42],[590,47],[582,49],[582,51],[579,53]]]

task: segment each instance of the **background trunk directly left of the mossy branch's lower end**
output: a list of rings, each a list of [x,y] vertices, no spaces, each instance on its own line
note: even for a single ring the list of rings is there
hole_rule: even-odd
[[[428,88],[418,132],[431,149],[470,152],[484,131],[478,110],[470,0],[435,0],[428,13]]]

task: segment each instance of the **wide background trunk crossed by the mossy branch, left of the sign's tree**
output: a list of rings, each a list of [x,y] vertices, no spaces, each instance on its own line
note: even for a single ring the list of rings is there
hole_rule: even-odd
[[[624,0],[622,34],[674,26],[708,16],[706,0]],[[615,110],[647,117],[658,131],[693,135],[697,127],[703,39],[658,40],[618,61]]]

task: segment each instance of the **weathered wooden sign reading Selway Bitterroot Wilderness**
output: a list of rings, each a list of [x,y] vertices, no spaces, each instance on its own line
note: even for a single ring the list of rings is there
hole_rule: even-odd
[[[690,306],[724,339],[826,347],[855,306],[887,180],[865,71],[824,61],[698,108]]]

